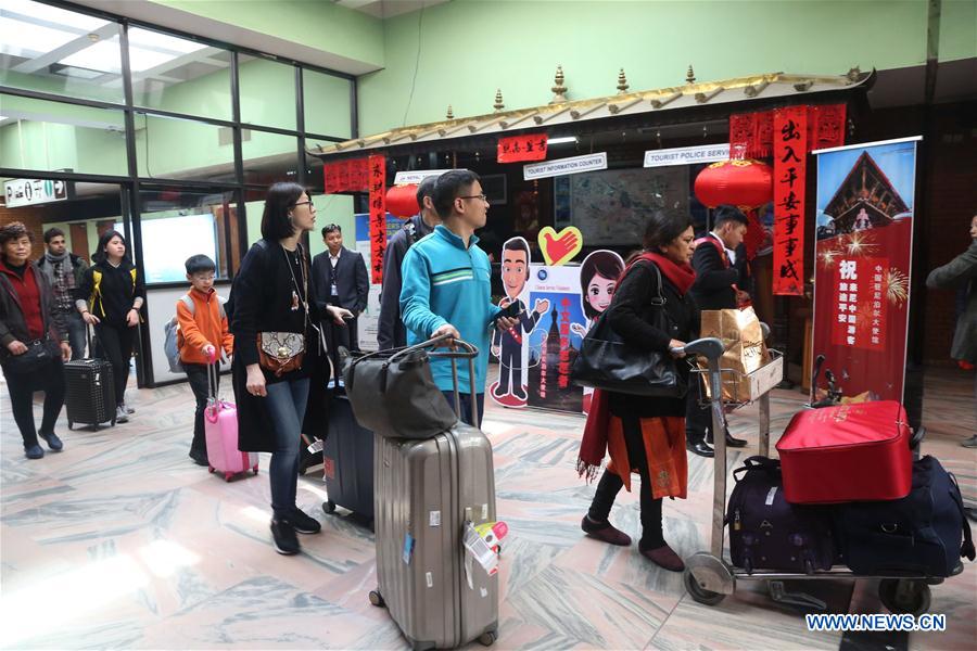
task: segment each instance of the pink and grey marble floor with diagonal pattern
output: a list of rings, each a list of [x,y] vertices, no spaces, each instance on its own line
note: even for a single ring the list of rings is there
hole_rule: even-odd
[[[229,388],[223,387],[223,392]],[[5,649],[403,649],[386,612],[373,608],[372,535],[326,515],[321,477],[300,480],[300,506],[322,522],[303,553],[269,544],[267,474],[225,483],[187,457],[191,403],[186,385],[136,392],[132,420],[69,432],[61,454],[22,454],[5,388],[0,391],[0,647]],[[928,373],[924,451],[956,473],[977,501],[977,451],[957,442],[977,431],[973,380]],[[775,392],[779,433],[800,407]],[[40,404],[36,405],[40,413]],[[930,612],[944,633],[842,643],[809,633],[803,616],[774,603],[758,582],[740,583],[716,607],[693,601],[682,577],[656,569],[635,547],[583,537],[593,486],[574,472],[583,420],[490,407],[498,514],[509,525],[500,562],[499,649],[974,649],[977,565],[934,586]],[[757,410],[731,417],[754,454]],[[268,467],[262,456],[262,469]],[[683,556],[708,547],[711,461],[689,459],[689,496],[665,505],[665,536]],[[612,513],[637,536],[636,494]],[[885,612],[870,579],[815,582],[828,612]],[[810,585],[810,584],[809,584]],[[471,648],[480,648],[478,643]]]

